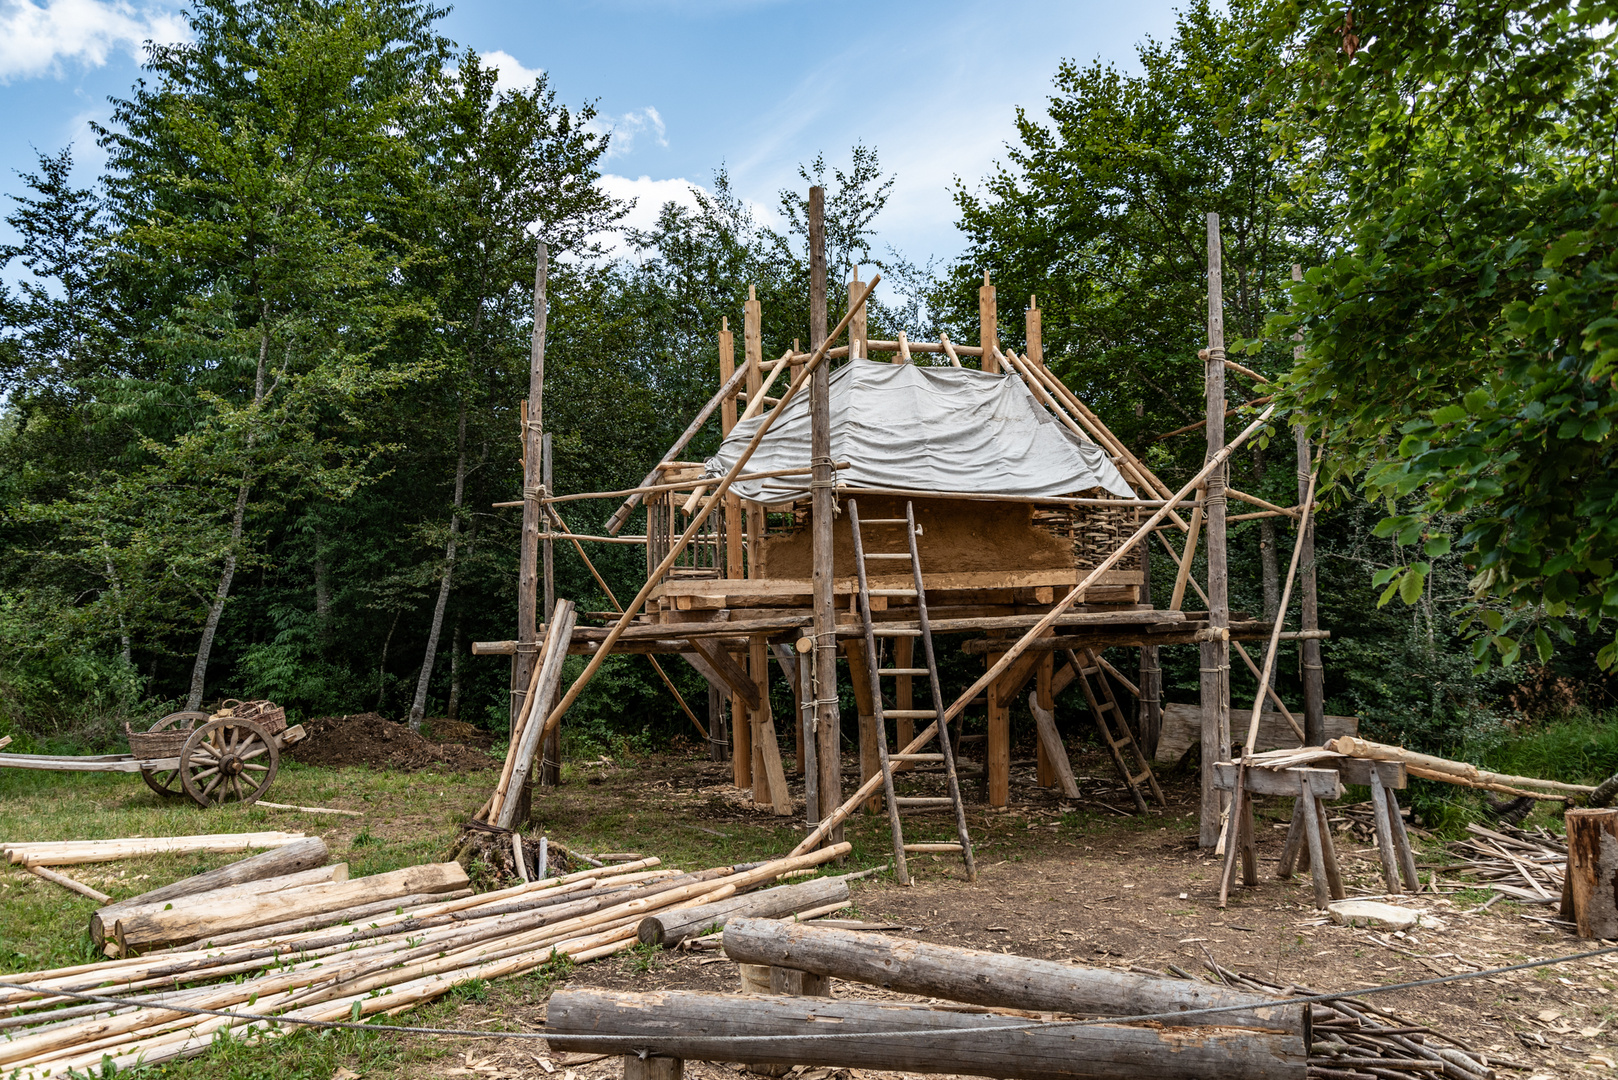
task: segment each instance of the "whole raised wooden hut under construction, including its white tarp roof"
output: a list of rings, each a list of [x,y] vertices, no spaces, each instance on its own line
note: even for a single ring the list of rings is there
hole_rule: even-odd
[[[858,279],[848,285],[846,308],[837,304],[845,311],[828,332],[817,196],[814,189],[807,351],[767,359],[764,313],[749,300],[741,313],[741,355],[735,334],[723,327],[722,385],[641,486],[557,494],[544,483],[549,476],[532,476],[523,502],[524,539],[532,541],[524,551],[534,552],[527,567],[539,552],[549,565],[557,541],[573,542],[581,555],[591,542],[642,542],[647,576],[610,627],[574,627],[570,609],[566,625],[552,617],[527,643],[477,646],[479,653],[515,654],[513,748],[524,742],[524,729],[529,745],[553,738],[607,654],[681,656],[714,688],[705,735],[717,755],[730,756],[736,785],[780,814],[803,805],[807,823],[817,826],[804,845],[833,836],[859,805],[877,808],[880,789],[903,878],[904,850],[959,850],[971,868],[958,780],[976,764],[989,805],[1008,803],[1010,712],[1024,693],[1039,727],[1039,782],[1078,795],[1053,719],[1055,696],[1074,687],[1116,772],[1146,811],[1162,800],[1149,766],[1162,725],[1157,649],[1202,646],[1199,712],[1207,764],[1230,758],[1233,643],[1254,674],[1241,640],[1269,638],[1273,661],[1272,625],[1231,622],[1226,523],[1307,518],[1299,507],[1272,505],[1225,484],[1225,461],[1269,413],[1226,445],[1226,366],[1252,372],[1223,358],[1217,219],[1210,219],[1204,351],[1209,452],[1197,476],[1171,491],[1045,366],[1032,298],[1024,311],[1026,351],[1000,347],[987,275],[976,345],[942,335],[937,342],[872,340],[864,303],[875,282]],[[718,453],[707,461],[681,460],[715,413],[725,434]],[[531,444],[536,434],[529,432]],[[531,452],[531,465],[539,457]],[[1307,447],[1299,445],[1301,465],[1307,460]],[[1302,484],[1299,495],[1302,502]],[[566,504],[607,497],[623,499],[607,523],[608,536],[568,529]],[[1231,499],[1252,507],[1226,515]],[[646,534],[620,536],[642,502]],[[1207,554],[1207,588],[1189,573],[1199,544]],[[1150,594],[1154,557],[1178,565],[1171,596]],[[1304,735],[1319,740],[1324,724],[1312,552],[1304,562],[1302,625],[1285,635],[1304,640],[1304,716],[1294,717],[1270,695],[1299,742]],[[532,597],[534,576],[527,581]],[[1194,593],[1191,606],[1201,599],[1199,609],[1186,610],[1188,593]],[[984,675],[953,703],[942,693],[934,656],[934,640],[945,636],[985,662]],[[560,678],[560,662],[550,664],[555,677],[540,678],[540,669],[545,654],[565,653],[592,659],[563,691],[547,685]],[[837,704],[840,659],[858,703],[859,785],[849,798],[840,748],[854,724]],[[772,667],[791,683],[796,716],[772,714]],[[982,717],[981,732],[968,733],[968,716]],[[937,738],[940,725],[948,738]],[[780,753],[788,730],[803,777],[801,803]],[[971,761],[956,769],[958,756]],[[914,793],[916,777],[940,774],[947,793]],[[1205,782],[1209,844],[1218,806],[1220,793]],[[904,840],[901,813],[950,808],[956,839]]]

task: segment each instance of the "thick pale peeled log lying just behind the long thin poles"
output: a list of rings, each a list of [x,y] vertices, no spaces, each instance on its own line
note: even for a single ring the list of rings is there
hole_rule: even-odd
[[[113,936],[128,950],[136,946],[197,941],[214,931],[267,926],[304,915],[340,912],[417,892],[451,892],[464,887],[468,887],[468,878],[460,863],[427,863],[395,870],[388,874],[345,881],[340,886],[299,889],[290,894],[248,895],[205,908],[184,907],[162,912],[147,907],[128,918],[116,920]]]

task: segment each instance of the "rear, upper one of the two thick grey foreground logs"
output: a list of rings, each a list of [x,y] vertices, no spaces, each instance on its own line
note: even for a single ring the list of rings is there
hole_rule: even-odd
[[[1260,994],[848,929],[738,918],[725,925],[725,955],[738,963],[830,975],[904,994],[1084,1017],[1244,1006],[1241,1012],[1189,1017],[1188,1023],[1309,1038],[1306,1007]]]

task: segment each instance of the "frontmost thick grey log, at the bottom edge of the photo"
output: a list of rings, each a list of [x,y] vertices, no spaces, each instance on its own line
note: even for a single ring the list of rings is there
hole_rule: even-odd
[[[895,1038],[901,1031],[925,1031]],[[840,1038],[824,1038],[825,1035]],[[633,1036],[634,1043],[600,1036]],[[796,1035],[801,1040],[746,1041]],[[869,1038],[849,1038],[862,1036]],[[1003,1015],[827,997],[561,989],[545,1010],[555,1051],[832,1065],[1027,1080],[1302,1080],[1302,1038],[1246,1028],[1031,1025]],[[641,1043],[639,1040],[644,1040]]]

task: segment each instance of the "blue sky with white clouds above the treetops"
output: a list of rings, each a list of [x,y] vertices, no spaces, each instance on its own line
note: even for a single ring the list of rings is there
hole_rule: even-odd
[[[1044,110],[1057,65],[1100,57],[1133,70],[1137,40],[1173,32],[1173,6],[461,0],[443,29],[502,79],[544,70],[561,100],[597,102],[615,131],[604,183],[637,198],[642,222],[722,164],[773,215],[777,191],[799,186],[799,162],[825,152],[841,165],[864,141],[896,176],[877,248],[925,262],[959,251],[955,180],[976,186],[1005,157],[1016,107]],[[31,147],[68,142],[91,180],[89,121],[138,78],[142,40],[183,36],[180,11],[167,0],[0,0],[0,191],[18,189]]]

